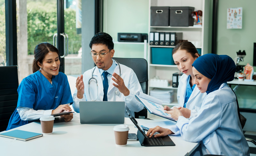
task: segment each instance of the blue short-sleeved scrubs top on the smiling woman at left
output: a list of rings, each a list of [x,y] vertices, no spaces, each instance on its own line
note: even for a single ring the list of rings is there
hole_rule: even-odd
[[[67,75],[61,72],[56,76],[52,76],[51,84],[40,71],[37,71],[24,78],[17,91],[19,94],[17,107],[49,110],[55,109],[59,105],[73,103]],[[17,109],[15,109],[6,130],[30,122],[32,121],[21,120]]]

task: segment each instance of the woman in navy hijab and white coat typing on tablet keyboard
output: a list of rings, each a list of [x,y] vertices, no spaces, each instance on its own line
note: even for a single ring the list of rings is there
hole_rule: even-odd
[[[205,54],[193,66],[195,84],[201,93],[206,92],[196,117],[188,120],[179,109],[173,108],[172,117],[178,119],[178,131],[161,127],[148,130],[155,137],[180,134],[189,142],[201,141],[203,154],[250,155],[237,112],[236,95],[226,82],[234,79],[236,66],[227,55]]]

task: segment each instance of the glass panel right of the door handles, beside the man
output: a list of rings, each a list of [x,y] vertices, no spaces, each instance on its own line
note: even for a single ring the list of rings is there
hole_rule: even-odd
[[[82,71],[81,0],[66,0],[64,2],[66,2],[64,6],[65,33],[68,35],[68,55],[65,57],[65,74],[77,77]]]

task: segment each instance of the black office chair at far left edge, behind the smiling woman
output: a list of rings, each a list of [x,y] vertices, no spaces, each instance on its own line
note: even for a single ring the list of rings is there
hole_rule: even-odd
[[[18,66],[0,66],[0,73],[0,131],[4,131],[17,107]]]

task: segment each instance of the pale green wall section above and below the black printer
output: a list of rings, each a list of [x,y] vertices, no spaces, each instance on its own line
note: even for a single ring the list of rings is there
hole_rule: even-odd
[[[148,34],[148,0],[105,0],[103,31],[117,42],[117,33]],[[143,58],[143,44],[115,44],[114,57]]]

